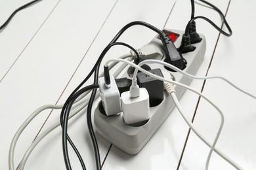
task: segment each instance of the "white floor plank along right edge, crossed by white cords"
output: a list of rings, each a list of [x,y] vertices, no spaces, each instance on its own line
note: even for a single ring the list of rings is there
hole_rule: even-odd
[[[247,92],[255,90],[255,26],[256,3],[231,1],[226,19],[233,35],[221,35],[209,75],[222,75]],[[244,169],[256,169],[255,100],[238,92],[221,80],[207,80],[205,95],[224,112],[225,123],[217,147]],[[213,141],[220,124],[216,110],[200,101],[195,125]],[[192,133],[182,159],[182,169],[204,169],[209,148]],[[196,156],[194,156],[196,154]],[[234,169],[217,154],[213,154],[210,169]]]

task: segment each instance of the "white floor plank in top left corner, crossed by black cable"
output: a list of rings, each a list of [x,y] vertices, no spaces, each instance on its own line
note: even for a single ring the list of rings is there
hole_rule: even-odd
[[[1,1],[0,24],[2,25],[14,10],[28,2],[30,0]],[[0,82],[11,69],[16,59],[20,57],[26,46],[32,41],[57,3],[58,0],[44,0],[20,10],[7,27],[0,31]]]

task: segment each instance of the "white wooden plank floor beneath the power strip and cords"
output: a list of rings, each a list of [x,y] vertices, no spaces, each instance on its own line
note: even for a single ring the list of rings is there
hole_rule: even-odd
[[[29,1],[1,0],[0,24]],[[211,3],[226,13],[233,35],[225,37],[206,22],[196,22],[198,32],[207,41],[205,59],[197,75],[224,76],[256,95],[256,1]],[[217,12],[202,5],[196,5],[198,15],[222,24]],[[160,29],[183,30],[189,18],[189,0],[43,0],[18,12],[0,32],[0,169],[8,169],[9,146],[22,122],[41,105],[64,103],[121,27],[142,20]],[[136,26],[125,32],[120,41],[140,48],[154,35],[149,29]],[[127,48],[113,48],[104,61],[127,52]],[[217,147],[244,169],[256,169],[255,100],[221,80],[207,80],[204,86],[202,80],[193,80],[190,85],[203,90],[224,112],[225,123]],[[194,124],[213,141],[220,124],[217,111],[190,92],[183,95],[181,105],[190,118],[196,113]],[[47,117],[42,131],[58,122],[59,115],[60,110],[46,110],[27,127],[16,146],[16,166]],[[209,148],[192,131],[188,135],[188,129],[179,112],[173,110],[135,156],[125,154],[97,135],[102,168],[204,169]],[[95,169],[85,114],[70,123],[69,134],[87,169]],[[73,169],[81,169],[71,147],[70,159]],[[209,168],[233,169],[215,153]],[[26,169],[65,169],[60,127],[35,148]]]

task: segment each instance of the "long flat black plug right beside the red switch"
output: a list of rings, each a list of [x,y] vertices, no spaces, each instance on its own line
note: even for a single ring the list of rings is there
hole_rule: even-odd
[[[166,33],[162,32],[160,35],[160,39],[163,43],[167,63],[174,65],[181,70],[184,69],[186,67],[184,58],[182,57],[181,52],[177,50],[169,36]]]

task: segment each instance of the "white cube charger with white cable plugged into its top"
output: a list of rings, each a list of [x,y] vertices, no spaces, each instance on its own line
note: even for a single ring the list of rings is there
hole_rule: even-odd
[[[140,95],[131,97],[130,92],[121,93],[123,120],[125,124],[138,124],[150,119],[149,95],[145,88],[139,88]]]

